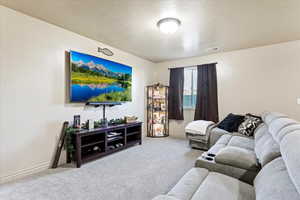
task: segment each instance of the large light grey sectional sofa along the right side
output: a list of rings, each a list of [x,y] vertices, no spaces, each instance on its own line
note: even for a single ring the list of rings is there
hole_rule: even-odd
[[[262,118],[254,138],[221,136],[212,161],[198,158],[155,200],[300,200],[300,124],[280,113]]]

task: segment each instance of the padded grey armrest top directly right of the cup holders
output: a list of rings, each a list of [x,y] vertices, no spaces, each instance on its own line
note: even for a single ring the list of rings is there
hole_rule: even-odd
[[[260,168],[253,151],[234,146],[221,149],[216,154],[215,162],[250,171],[257,171]]]

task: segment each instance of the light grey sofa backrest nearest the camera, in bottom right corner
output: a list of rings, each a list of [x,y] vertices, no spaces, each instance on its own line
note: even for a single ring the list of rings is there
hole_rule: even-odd
[[[254,180],[256,200],[300,199],[300,130],[280,141],[281,156],[265,165]]]

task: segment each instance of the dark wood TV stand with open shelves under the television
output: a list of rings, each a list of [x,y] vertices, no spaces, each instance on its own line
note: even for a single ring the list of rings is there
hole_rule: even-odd
[[[119,133],[118,137],[109,137],[109,133]],[[123,150],[136,144],[142,144],[142,122],[134,122],[106,128],[80,130],[73,134],[75,152],[73,160],[79,168],[83,163]],[[122,146],[115,147],[117,144]],[[115,148],[112,148],[115,147]]]

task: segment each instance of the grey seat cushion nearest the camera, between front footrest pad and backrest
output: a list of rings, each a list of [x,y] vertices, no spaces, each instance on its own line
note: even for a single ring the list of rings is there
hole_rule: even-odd
[[[235,178],[210,172],[191,200],[255,200],[253,186]]]

